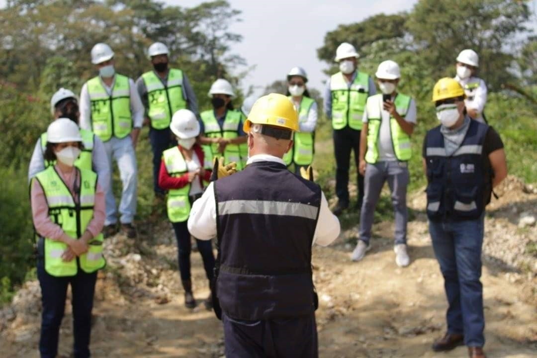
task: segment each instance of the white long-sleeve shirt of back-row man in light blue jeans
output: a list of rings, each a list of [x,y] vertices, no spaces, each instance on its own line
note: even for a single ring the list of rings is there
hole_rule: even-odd
[[[112,86],[108,87],[103,80],[99,77],[101,80],[101,84],[103,85],[104,89],[108,94],[112,94],[112,89],[115,84],[115,75],[114,75],[114,81],[112,82]],[[136,91],[136,85],[134,84],[134,81],[129,78],[129,94],[130,94],[130,113],[132,114],[133,118],[133,127],[134,128],[142,128],[143,123],[143,104],[142,100],[140,99],[140,95],[138,94],[138,91]],[[90,101],[90,93],[88,92],[88,82],[84,83],[82,86],[82,90],[80,91],[80,101],[79,101],[79,111],[80,111],[80,118],[79,118],[79,125],[82,129],[88,129],[92,130],[91,128],[91,101]]]

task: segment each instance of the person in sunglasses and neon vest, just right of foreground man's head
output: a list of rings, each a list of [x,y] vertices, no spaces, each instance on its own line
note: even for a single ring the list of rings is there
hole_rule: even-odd
[[[306,83],[308,75],[301,67],[293,67],[287,73],[287,96],[299,113],[300,131],[293,136],[293,147],[284,155],[287,166],[294,164],[295,174],[313,162],[315,151],[315,126],[317,125],[317,103],[311,98]]]

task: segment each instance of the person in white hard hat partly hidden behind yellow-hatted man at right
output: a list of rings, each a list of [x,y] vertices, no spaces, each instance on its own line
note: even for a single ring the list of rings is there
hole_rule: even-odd
[[[476,77],[479,67],[479,56],[474,50],[464,49],[456,59],[455,79],[465,90],[466,111],[471,119],[486,122],[484,115],[487,104],[487,85],[483,79]]]

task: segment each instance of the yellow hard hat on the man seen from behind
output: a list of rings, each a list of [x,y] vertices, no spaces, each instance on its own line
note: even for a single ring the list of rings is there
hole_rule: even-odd
[[[289,98],[283,94],[270,93],[253,104],[248,118],[244,121],[245,133],[250,131],[252,123],[298,131],[299,115]]]

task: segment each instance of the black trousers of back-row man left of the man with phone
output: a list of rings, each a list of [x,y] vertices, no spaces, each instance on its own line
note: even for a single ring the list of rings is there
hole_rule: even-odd
[[[349,169],[351,151],[354,151],[354,163],[358,177],[358,204],[364,199],[364,177],[358,172],[360,154],[360,130],[347,126],[333,130],[334,154],[336,156],[336,195],[341,202],[349,202]]]

